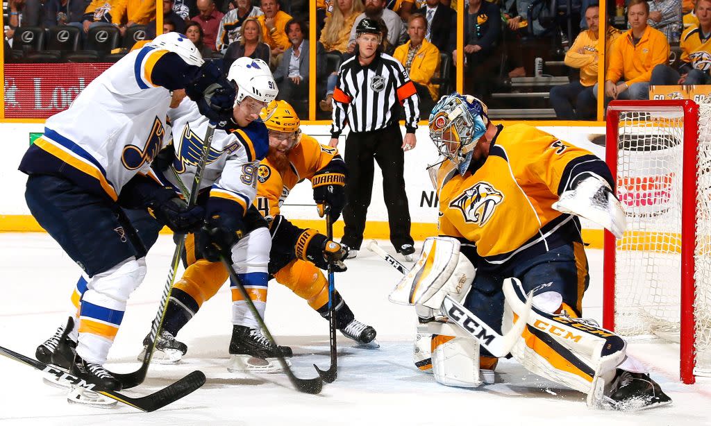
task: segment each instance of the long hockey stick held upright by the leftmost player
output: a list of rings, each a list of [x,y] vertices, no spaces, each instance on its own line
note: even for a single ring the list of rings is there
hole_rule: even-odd
[[[195,170],[195,176],[193,178],[193,186],[191,188],[190,195],[188,197],[188,207],[195,205],[198,200],[198,192],[200,191],[200,181],[203,179],[203,172],[205,171],[205,164],[208,162],[208,154],[210,153],[210,145],[213,143],[213,134],[215,133],[215,124],[208,122],[208,130],[205,131],[205,138],[203,139],[203,152],[201,153],[200,161]],[[178,182],[181,182],[178,179]],[[151,334],[150,334],[150,344],[146,348],[146,354],[143,356],[143,361],[141,362],[141,367],[134,371],[133,373],[112,373],[112,375],[120,381],[124,388],[133,388],[138,386],[146,379],[146,373],[148,373],[148,367],[151,364],[151,359],[153,358],[153,353],[156,349],[156,337],[161,334],[163,330],[163,320],[166,317],[166,312],[168,311],[168,300],[171,297],[171,291],[173,290],[173,282],[176,278],[176,271],[178,271],[178,266],[181,261],[181,254],[183,253],[183,247],[185,246],[185,235],[178,234],[178,241],[176,242],[176,249],[173,251],[173,261],[171,261],[171,268],[168,272],[168,278],[166,278],[166,284],[163,290],[163,295],[161,297],[161,307],[156,312],[156,317],[151,324]]]

